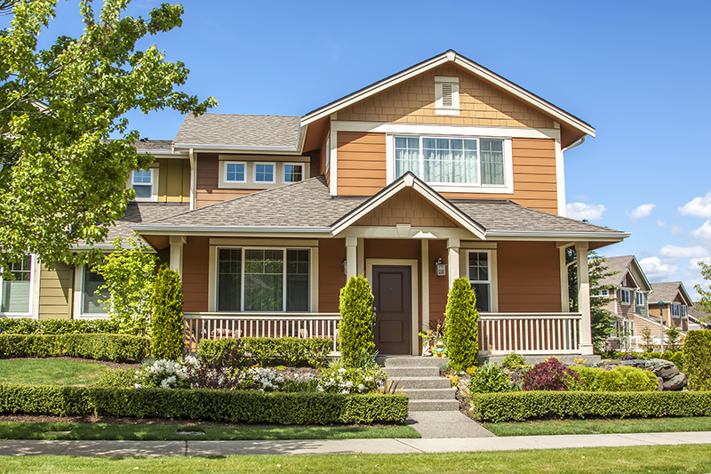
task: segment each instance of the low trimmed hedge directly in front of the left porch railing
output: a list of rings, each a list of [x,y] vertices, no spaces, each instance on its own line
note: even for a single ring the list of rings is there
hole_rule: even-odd
[[[286,366],[308,364],[323,366],[333,349],[328,338],[242,337],[237,339],[204,339],[197,356],[203,364],[229,367],[266,366],[280,363]]]

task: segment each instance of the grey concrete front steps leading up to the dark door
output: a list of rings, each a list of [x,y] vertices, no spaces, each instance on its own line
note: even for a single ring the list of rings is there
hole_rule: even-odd
[[[387,378],[410,398],[411,412],[459,411],[456,389],[439,374],[439,367],[447,365],[446,358],[380,356],[376,360]]]

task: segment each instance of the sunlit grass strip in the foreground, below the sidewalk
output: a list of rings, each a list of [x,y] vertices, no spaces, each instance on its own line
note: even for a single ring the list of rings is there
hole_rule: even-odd
[[[695,473],[711,470],[711,445],[633,446],[455,454],[243,455],[220,458],[0,457],[0,472]]]

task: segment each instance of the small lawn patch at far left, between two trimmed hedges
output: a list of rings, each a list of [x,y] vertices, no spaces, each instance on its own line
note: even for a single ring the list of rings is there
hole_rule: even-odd
[[[0,383],[92,385],[108,366],[59,358],[0,359]]]

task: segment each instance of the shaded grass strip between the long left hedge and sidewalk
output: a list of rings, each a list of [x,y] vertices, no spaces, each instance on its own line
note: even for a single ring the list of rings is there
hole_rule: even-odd
[[[47,431],[70,431],[48,433]],[[204,431],[204,435],[179,435],[178,431]],[[109,423],[0,422],[0,439],[354,439],[420,438],[409,426],[204,426]]]

